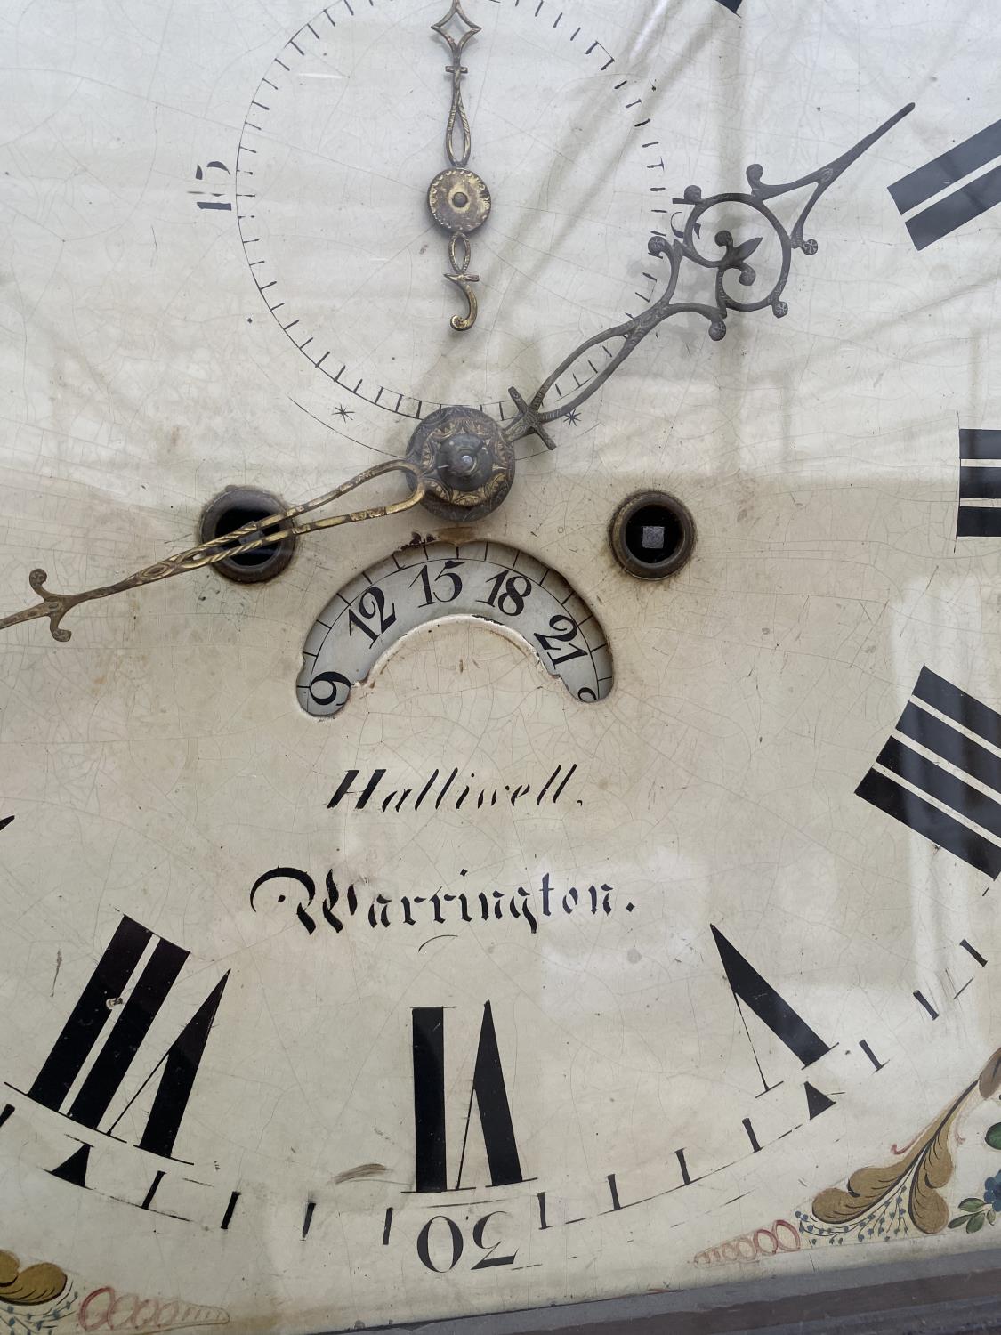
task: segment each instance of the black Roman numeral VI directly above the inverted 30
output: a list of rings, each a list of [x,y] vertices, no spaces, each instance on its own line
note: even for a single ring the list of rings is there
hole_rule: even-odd
[[[483,1007],[483,1024],[476,1047],[476,1065],[462,1137],[462,1155],[455,1189],[462,1184],[462,1165],[476,1100],[490,1180],[495,1187],[525,1181],[514,1139],[511,1108],[500,1068],[494,1013]],[[442,1007],[414,1011],[414,1140],[416,1191],[447,1191],[448,1156],[444,1132],[444,1011]]]

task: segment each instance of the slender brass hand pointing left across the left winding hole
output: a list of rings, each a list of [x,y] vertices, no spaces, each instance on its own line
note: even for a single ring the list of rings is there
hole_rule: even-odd
[[[310,514],[312,510],[320,510],[323,506],[331,505],[340,497],[347,495],[348,491],[354,491],[355,487],[360,487],[366,482],[380,478],[387,473],[404,473],[411,479],[414,490],[406,501],[375,506],[368,510],[355,510],[351,514],[338,514],[327,519],[311,519],[308,523],[295,522],[300,515]],[[115,583],[101,585],[97,589],[87,589],[83,593],[52,593],[51,589],[45,587],[45,581],[48,579],[47,571],[32,570],[28,575],[28,583],[35,593],[41,595],[41,602],[36,602],[31,607],[25,607],[24,611],[16,611],[0,619],[0,630],[7,630],[8,626],[17,626],[23,621],[36,621],[39,617],[48,617],[52,638],[60,643],[65,643],[71,638],[71,631],[64,630],[60,626],[60,621],[77,603],[92,602],[95,598],[109,598],[112,594],[127,593],[129,589],[140,589],[143,585],[156,583],[159,579],[170,579],[174,575],[188,574],[191,570],[202,570],[204,566],[214,566],[220,561],[226,561],[227,557],[258,551],[260,547],[271,546],[283,538],[300,538],[303,534],[316,533],[319,529],[334,529],[342,523],[359,523],[362,519],[379,519],[384,515],[400,514],[403,510],[410,510],[423,501],[426,485],[427,473],[419,465],[406,459],[392,459],[388,463],[379,463],[374,469],[366,469],[364,473],[359,473],[350,482],[342,482],[332,491],[316,497],[315,501],[306,501],[303,505],[290,506],[290,509],[282,510],[279,514],[256,519],[254,523],[246,523],[242,529],[234,529],[232,533],[212,538],[210,542],[202,542],[198,547],[190,547],[187,551],[179,551],[174,557],[167,557],[165,561],[144,566],[141,570],[136,570],[135,574]]]

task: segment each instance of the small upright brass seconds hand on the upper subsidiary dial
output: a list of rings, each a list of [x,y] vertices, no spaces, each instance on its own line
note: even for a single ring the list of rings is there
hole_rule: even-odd
[[[452,23],[462,25],[458,36],[450,31]],[[451,326],[463,332],[472,328],[479,311],[472,288],[479,282],[479,275],[470,274],[470,234],[486,223],[491,203],[486,183],[467,167],[472,152],[472,131],[462,96],[462,80],[468,73],[462,63],[462,53],[482,29],[463,13],[462,0],[452,0],[448,13],[431,24],[431,29],[448,45],[452,56],[451,64],[446,65],[446,72],[452,76],[452,103],[444,132],[444,152],[451,166],[431,182],[427,203],[435,222],[450,234],[448,258],[452,271],[444,276],[463,292],[468,306],[466,315],[452,315]]]

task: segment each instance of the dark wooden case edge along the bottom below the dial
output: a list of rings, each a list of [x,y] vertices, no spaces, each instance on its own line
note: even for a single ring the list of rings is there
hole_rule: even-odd
[[[880,1244],[874,1244],[880,1246]],[[888,1244],[882,1244],[888,1246]],[[848,1259],[848,1258],[846,1258]],[[534,1311],[350,1328],[367,1335],[1001,1335],[1001,1244],[866,1266]]]

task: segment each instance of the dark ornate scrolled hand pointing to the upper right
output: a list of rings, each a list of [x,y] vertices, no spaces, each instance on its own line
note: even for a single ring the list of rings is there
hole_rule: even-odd
[[[593,338],[583,342],[570,354],[570,356],[565,358],[565,360],[559,363],[557,370],[539,386],[531,399],[526,400],[517,388],[511,388],[510,394],[514,399],[515,407],[518,409],[518,414],[502,426],[505,439],[513,443],[523,435],[534,434],[538,435],[550,450],[555,450],[555,442],[546,431],[546,426],[579,407],[593,394],[595,394],[602,384],[605,384],[609,376],[614,375],[614,372],[622,366],[626,358],[630,356],[637,347],[639,347],[643,339],[649,334],[653,334],[658,324],[670,319],[671,315],[681,315],[683,311],[703,315],[709,320],[709,336],[715,342],[726,335],[726,316],[730,311],[761,311],[766,306],[770,306],[777,318],[781,319],[786,315],[789,307],[782,300],[782,292],[785,291],[785,286],[789,280],[793,251],[801,250],[805,255],[817,254],[817,242],[803,239],[803,226],[810,211],[813,210],[813,206],[844,171],[861,158],[862,154],[877,142],[877,139],[881,139],[897,124],[897,121],[902,120],[904,116],[909,115],[913,109],[914,103],[910,103],[910,105],[898,111],[896,116],[890,116],[890,119],[880,125],[878,129],[874,129],[870,135],[866,135],[865,139],[860,140],[854,148],[849,148],[849,151],[842,154],[841,158],[836,158],[834,162],[827,163],[826,167],[819,167],[809,176],[801,176],[798,180],[787,182],[783,186],[766,186],[762,180],[763,168],[758,163],[754,163],[747,168],[746,175],[750,190],[742,194],[713,195],[709,199],[703,199],[702,191],[698,186],[689,186],[683,196],[674,200],[675,204],[691,206],[691,211],[683,230],[678,231],[671,227],[671,231],[674,232],[673,238],[661,236],[658,234],[650,239],[650,254],[663,256],[670,266],[666,291],[641,315],[637,315],[634,319],[626,320],[622,324],[615,324],[611,328],[602,330],[601,334],[595,334]],[[779,195],[791,194],[794,190],[802,190],[807,186],[813,186],[813,192],[806,204],[801,208],[799,216],[797,218],[791,232],[789,232],[774,212],[767,207],[766,202],[775,199]],[[739,300],[733,296],[726,290],[726,276],[731,270],[735,270],[738,274],[738,282],[742,287],[754,286],[758,275],[754,272],[747,260],[761,244],[759,236],[751,236],[739,244],[734,244],[733,235],[729,231],[718,231],[714,240],[715,244],[722,248],[722,255],[710,258],[698,250],[699,222],[705,214],[717,204],[743,204],[745,207],[753,210],[759,219],[763,219],[778,239],[782,255],[778,278],[773,283],[771,288],[755,300]],[[713,270],[715,272],[714,299],[711,303],[674,300],[678,279],[682,272],[682,262],[686,259],[702,268]],[[622,342],[615,351],[606,347],[607,343],[613,343],[619,339]],[[595,366],[594,362],[587,358],[587,354],[595,347],[602,348],[606,355],[607,360],[605,364]],[[565,400],[558,409],[543,410],[542,405],[546,395],[551,388],[554,388],[554,386],[557,386],[561,376],[571,371],[571,367],[574,367],[577,362],[583,363],[582,370],[586,368],[590,371],[586,379],[582,379],[574,372],[574,380],[579,386],[579,392],[569,400]]]

